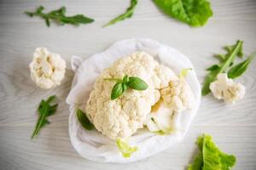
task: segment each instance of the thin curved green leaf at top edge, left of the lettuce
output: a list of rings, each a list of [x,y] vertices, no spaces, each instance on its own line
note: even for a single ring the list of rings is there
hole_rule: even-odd
[[[137,0],[131,0],[131,4],[130,4],[130,7],[126,9],[125,13],[124,14],[120,14],[118,17],[114,18],[113,20],[110,20],[107,24],[105,24],[103,27],[105,26],[111,26],[121,20],[125,20],[125,19],[128,19],[128,18],[131,18],[133,12],[134,12],[134,9],[136,8],[137,6]]]

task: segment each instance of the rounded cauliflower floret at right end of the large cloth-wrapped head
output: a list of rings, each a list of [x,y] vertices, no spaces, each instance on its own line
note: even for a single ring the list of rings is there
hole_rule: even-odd
[[[180,112],[191,109],[195,103],[194,94],[183,78],[169,82],[169,86],[160,89],[164,105],[173,111]]]

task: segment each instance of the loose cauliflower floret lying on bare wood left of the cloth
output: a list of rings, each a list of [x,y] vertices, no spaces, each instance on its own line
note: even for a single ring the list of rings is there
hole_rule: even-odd
[[[61,59],[60,54],[50,53],[46,48],[36,48],[29,68],[32,81],[38,87],[48,89],[61,84],[66,62]]]

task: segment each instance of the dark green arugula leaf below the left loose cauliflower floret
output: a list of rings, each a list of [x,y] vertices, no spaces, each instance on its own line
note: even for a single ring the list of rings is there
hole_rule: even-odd
[[[34,139],[34,137],[38,135],[42,127],[49,124],[47,117],[55,114],[58,105],[50,105],[52,102],[54,102],[55,98],[56,96],[53,95],[50,96],[49,99],[47,99],[46,101],[42,99],[42,101],[40,102],[40,105],[38,106],[39,118],[36,127],[32,133],[31,139]]]

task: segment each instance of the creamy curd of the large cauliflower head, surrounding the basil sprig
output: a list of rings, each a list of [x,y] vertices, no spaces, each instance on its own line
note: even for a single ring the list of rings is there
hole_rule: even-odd
[[[143,91],[127,89],[118,99],[110,99],[115,82],[106,78],[140,77],[148,84]],[[84,111],[96,129],[109,139],[127,138],[147,124],[152,109],[160,99],[172,111],[190,109],[194,97],[189,85],[165,65],[144,52],[118,59],[97,77]],[[160,113],[158,113],[160,114]]]

